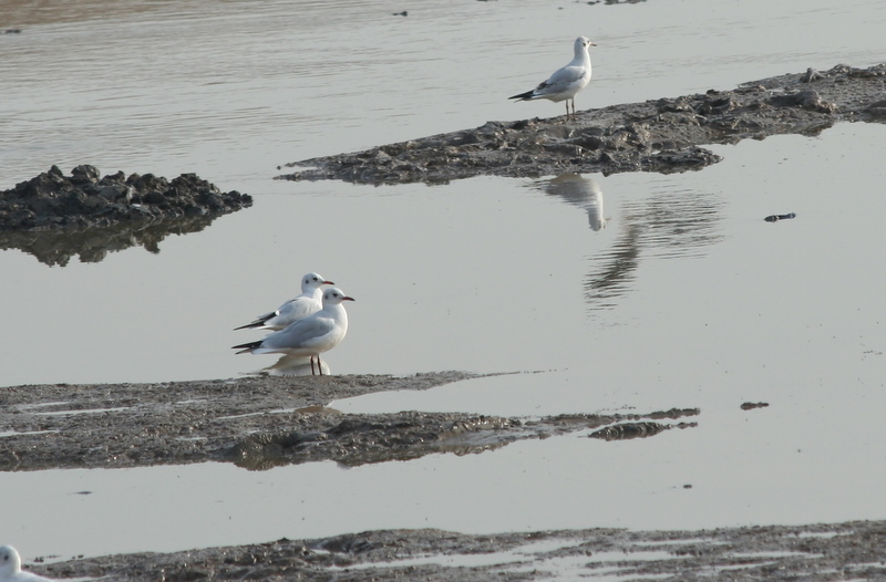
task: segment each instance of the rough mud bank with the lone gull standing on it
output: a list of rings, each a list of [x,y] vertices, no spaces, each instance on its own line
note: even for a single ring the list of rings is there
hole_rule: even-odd
[[[700,147],[705,144],[817,135],[843,121],[886,122],[886,63],[810,69],[742,83],[732,91],[612,105],[579,112],[575,122],[488,122],[474,129],[293,162],[287,167],[308,169],[277,179],[442,184],[477,175],[686,172],[720,160]]]

